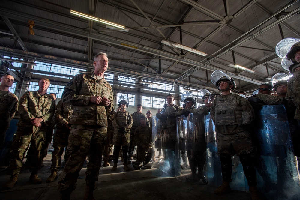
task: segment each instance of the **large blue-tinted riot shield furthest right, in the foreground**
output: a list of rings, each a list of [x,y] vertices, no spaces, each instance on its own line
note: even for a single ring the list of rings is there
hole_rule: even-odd
[[[256,115],[257,188],[264,199],[299,199],[297,158],[283,105],[262,106]]]

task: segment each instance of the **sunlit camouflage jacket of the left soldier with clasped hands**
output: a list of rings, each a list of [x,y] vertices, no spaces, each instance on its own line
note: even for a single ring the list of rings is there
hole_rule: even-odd
[[[30,118],[42,118],[42,125],[52,120],[55,112],[55,101],[49,94],[41,96],[38,91],[28,91],[20,98],[18,126],[30,127]]]

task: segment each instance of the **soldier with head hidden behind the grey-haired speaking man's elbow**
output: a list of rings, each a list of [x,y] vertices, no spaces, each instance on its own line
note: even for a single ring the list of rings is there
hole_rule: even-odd
[[[51,164],[51,175],[47,178],[46,182],[52,182],[57,178],[57,170],[61,167],[61,156],[64,152],[64,148],[67,149],[68,138],[70,135],[70,126],[68,122],[70,121],[73,112],[73,105],[63,103],[60,100],[56,106],[55,112],[55,133],[53,140],[53,151],[52,151],[52,164]],[[68,156],[65,152],[65,161],[67,162]]]

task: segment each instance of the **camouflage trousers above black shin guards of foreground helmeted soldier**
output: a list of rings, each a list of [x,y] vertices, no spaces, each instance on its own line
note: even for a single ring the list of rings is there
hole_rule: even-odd
[[[248,131],[244,130],[235,134],[221,134],[218,136],[218,153],[230,154],[231,156],[250,154],[255,156],[256,148],[252,144],[251,135]]]

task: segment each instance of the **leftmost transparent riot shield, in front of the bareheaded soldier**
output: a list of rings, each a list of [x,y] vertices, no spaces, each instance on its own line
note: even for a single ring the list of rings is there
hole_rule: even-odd
[[[164,110],[162,112],[164,112]],[[174,121],[176,122],[176,118]],[[153,162],[151,162],[152,176],[154,177],[175,177],[176,168],[180,167],[175,164],[177,127],[176,124],[174,127],[170,127],[169,125],[170,124],[166,124],[165,119],[159,119],[157,128],[152,129],[153,151],[155,155],[158,155],[155,159],[152,158]],[[173,134],[174,139],[170,139]]]

